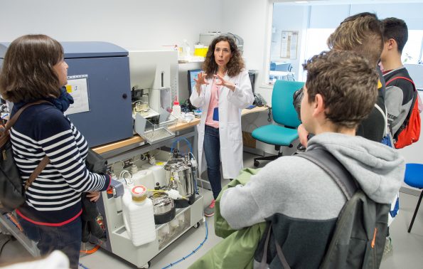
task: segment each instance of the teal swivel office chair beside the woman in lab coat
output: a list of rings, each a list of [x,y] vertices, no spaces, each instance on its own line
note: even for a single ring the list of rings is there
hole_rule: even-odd
[[[254,166],[259,160],[273,160],[282,156],[281,147],[292,147],[298,138],[296,128],[300,125],[299,117],[292,105],[294,92],[303,87],[298,81],[277,80],[272,91],[272,117],[278,125],[265,125],[252,131],[252,137],[266,144],[273,144],[278,151],[276,156],[254,158]],[[283,126],[281,126],[283,125]]]

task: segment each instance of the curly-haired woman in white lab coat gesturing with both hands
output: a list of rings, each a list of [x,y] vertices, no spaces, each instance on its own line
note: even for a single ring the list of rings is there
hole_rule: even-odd
[[[235,178],[242,169],[241,110],[254,101],[250,77],[233,38],[218,36],[212,41],[203,72],[194,80],[190,100],[203,110],[198,125],[200,172],[207,167],[214,198],[204,214],[213,216],[222,189],[220,157],[223,177]]]

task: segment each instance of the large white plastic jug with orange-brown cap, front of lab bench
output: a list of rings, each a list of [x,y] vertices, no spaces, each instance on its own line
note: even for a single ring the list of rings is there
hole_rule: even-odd
[[[134,246],[156,240],[153,203],[147,197],[145,186],[134,186],[131,191],[125,189],[123,201],[124,225]]]

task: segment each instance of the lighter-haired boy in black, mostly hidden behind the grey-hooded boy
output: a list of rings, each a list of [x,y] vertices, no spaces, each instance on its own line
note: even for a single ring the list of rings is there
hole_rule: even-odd
[[[376,104],[385,112],[385,81],[378,66],[383,49],[382,23],[375,14],[363,12],[346,18],[328,38],[328,47],[335,51],[355,51],[369,60],[380,75]],[[300,125],[299,139],[306,146],[309,132]],[[370,115],[357,127],[357,135],[380,142],[385,135],[385,116],[373,107]]]

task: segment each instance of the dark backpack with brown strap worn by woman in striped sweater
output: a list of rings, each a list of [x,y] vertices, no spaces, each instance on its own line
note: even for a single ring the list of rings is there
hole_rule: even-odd
[[[16,112],[6,126],[0,130],[0,211],[1,213],[11,212],[25,202],[25,191],[40,174],[50,159],[45,156],[36,167],[26,182],[23,182],[16,167],[14,152],[10,141],[10,129],[18,120],[19,115],[31,105],[38,105],[46,101],[31,102]]]

